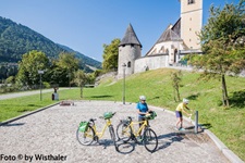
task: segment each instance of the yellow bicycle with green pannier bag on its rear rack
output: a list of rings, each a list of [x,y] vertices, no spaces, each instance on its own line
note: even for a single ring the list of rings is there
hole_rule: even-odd
[[[111,136],[111,140],[115,147],[115,150],[118,151],[118,147],[115,143],[115,134],[114,128],[111,124],[111,118],[115,114],[112,112],[106,112],[103,116],[100,116],[99,118],[103,118],[106,121],[106,124],[102,128],[102,131],[97,131],[95,121],[96,118],[90,118],[88,122],[81,122],[78,129],[76,130],[76,138],[79,141],[79,143],[84,146],[91,145],[93,141],[99,142],[99,139],[102,138],[105,131],[107,128],[109,128],[109,133]]]

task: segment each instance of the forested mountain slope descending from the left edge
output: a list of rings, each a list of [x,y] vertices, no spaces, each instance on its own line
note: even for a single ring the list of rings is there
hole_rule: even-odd
[[[16,63],[24,53],[30,50],[42,51],[50,59],[58,58],[60,52],[72,52],[75,53],[77,59],[82,59],[83,70],[90,70],[89,66],[101,67],[99,61],[74,51],[69,47],[54,43],[41,34],[0,16],[0,63]]]

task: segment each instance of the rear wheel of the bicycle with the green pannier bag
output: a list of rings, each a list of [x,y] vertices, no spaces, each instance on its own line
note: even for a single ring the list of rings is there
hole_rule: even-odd
[[[76,138],[79,143],[88,146],[91,145],[95,138],[95,130],[91,126],[88,126],[86,131],[81,131],[79,128],[76,130]]]

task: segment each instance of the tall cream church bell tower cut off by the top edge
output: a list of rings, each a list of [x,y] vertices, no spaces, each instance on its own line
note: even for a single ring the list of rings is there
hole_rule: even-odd
[[[181,2],[181,38],[187,49],[199,50],[200,40],[197,34],[203,26],[203,0],[180,0]]]

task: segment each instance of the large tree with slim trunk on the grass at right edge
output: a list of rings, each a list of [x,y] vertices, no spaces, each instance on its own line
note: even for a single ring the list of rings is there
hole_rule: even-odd
[[[225,4],[223,9],[210,8],[210,17],[199,35],[204,54],[189,58],[195,67],[204,70],[204,77],[221,80],[222,102],[225,106],[229,106],[225,75],[234,73],[233,70],[237,73],[244,68],[234,64],[244,59],[244,53],[234,53],[235,45],[245,35],[244,2],[241,0],[237,5]]]

